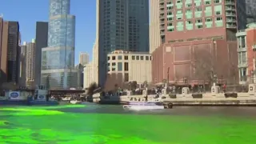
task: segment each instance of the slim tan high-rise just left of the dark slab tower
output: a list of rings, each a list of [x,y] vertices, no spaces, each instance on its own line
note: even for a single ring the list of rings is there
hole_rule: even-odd
[[[26,87],[34,88],[35,74],[35,40],[26,44]]]

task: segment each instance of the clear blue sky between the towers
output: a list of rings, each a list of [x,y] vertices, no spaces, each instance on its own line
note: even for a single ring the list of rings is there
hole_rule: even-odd
[[[22,42],[35,38],[37,21],[48,21],[49,0],[0,0],[0,14],[5,21],[18,21]],[[96,31],[96,0],[71,0],[71,14],[76,16],[75,62],[80,51],[90,59]]]

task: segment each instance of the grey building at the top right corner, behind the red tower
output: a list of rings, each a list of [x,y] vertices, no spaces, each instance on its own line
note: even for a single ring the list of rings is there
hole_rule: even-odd
[[[256,22],[256,1],[246,0],[247,23]]]

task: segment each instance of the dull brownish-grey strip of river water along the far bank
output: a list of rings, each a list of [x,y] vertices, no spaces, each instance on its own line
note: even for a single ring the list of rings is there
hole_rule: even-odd
[[[86,108],[62,109],[72,113],[100,113],[100,114],[162,114],[162,115],[229,115],[256,118],[256,107],[237,106],[174,106],[165,110],[124,110],[122,106],[91,105]]]

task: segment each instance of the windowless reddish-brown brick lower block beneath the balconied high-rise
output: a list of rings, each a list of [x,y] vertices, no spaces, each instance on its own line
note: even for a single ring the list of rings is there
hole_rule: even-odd
[[[213,67],[212,71],[218,78],[228,80],[233,78],[234,74],[235,78],[238,78],[237,42],[202,40],[167,43],[158,47],[152,56],[154,83],[168,79],[168,68],[169,82],[182,83],[183,78],[187,78],[190,83],[201,83],[198,80],[206,80],[204,74],[208,73],[207,69],[210,67]],[[196,74],[195,69],[201,70],[202,75]]]

